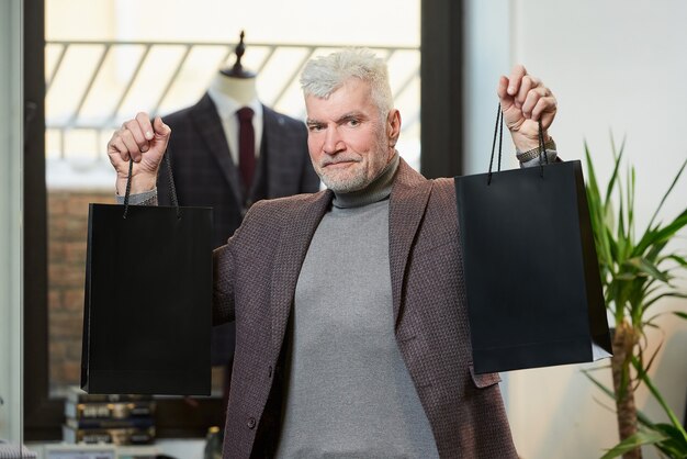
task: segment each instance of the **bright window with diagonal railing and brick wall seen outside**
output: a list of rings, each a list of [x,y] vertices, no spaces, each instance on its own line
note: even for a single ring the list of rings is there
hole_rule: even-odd
[[[256,0],[240,9],[212,0],[45,0],[50,396],[79,384],[88,204],[114,201],[108,139],[138,111],[165,115],[195,103],[217,70],[234,63],[241,30],[243,64],[258,72],[259,98],[296,119],[305,117],[297,76],[308,58],[351,45],[386,58],[404,123],[398,150],[419,169],[420,1],[322,7],[306,0]],[[217,368],[214,395],[223,384]]]

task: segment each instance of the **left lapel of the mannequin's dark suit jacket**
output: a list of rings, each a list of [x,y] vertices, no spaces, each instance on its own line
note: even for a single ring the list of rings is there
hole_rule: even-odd
[[[232,161],[229,145],[224,134],[222,120],[217,114],[215,103],[207,93],[191,108],[191,116],[195,123],[195,127],[201,134],[201,138],[210,153],[215,157],[224,178],[232,188],[236,197],[236,202],[244,202],[238,170],[236,166],[234,166],[234,161]]]

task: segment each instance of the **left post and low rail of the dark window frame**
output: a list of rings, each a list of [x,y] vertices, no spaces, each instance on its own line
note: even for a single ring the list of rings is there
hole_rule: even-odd
[[[64,398],[49,394],[47,187],[45,183],[45,0],[24,8],[24,436],[61,439]],[[158,438],[203,437],[222,425],[222,398],[156,399]]]

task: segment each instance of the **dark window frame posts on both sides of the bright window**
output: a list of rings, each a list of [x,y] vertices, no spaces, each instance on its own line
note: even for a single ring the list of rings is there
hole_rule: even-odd
[[[42,441],[61,438],[64,399],[49,395],[45,0],[24,5],[24,432],[26,440]],[[463,171],[462,21],[462,1],[421,1],[420,169],[427,178]],[[448,71],[432,71],[437,68]],[[157,402],[158,438],[203,437],[209,426],[224,421],[221,398]]]

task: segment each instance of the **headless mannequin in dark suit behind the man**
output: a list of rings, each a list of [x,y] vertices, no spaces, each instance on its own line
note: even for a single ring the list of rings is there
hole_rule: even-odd
[[[256,74],[241,65],[245,49],[241,32],[236,46],[236,63],[217,71],[205,94],[194,105],[164,116],[172,130],[168,155],[179,205],[213,208],[214,247],[226,243],[257,200],[319,190],[319,178],[307,152],[305,124],[260,103]],[[240,107],[250,107],[255,111],[258,164],[249,189],[243,186],[238,171],[238,120],[230,112]],[[160,205],[171,204],[166,167],[162,163],[158,173]],[[234,335],[234,323],[213,328],[212,361],[226,369],[225,403]]]

